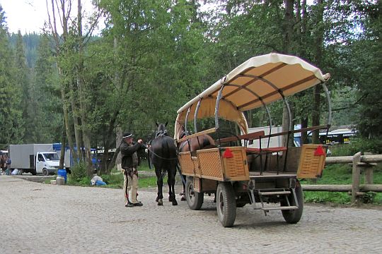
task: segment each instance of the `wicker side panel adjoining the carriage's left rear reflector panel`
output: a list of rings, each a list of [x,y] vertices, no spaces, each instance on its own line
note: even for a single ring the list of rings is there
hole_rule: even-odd
[[[223,181],[223,169],[221,167],[219,148],[198,150],[197,158],[199,159],[202,177],[206,176],[207,178]]]

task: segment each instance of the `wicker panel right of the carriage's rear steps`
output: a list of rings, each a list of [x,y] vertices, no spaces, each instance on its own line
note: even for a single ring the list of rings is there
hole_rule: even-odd
[[[325,167],[325,155],[314,155],[321,145],[303,145],[297,177],[300,179],[316,179],[321,176]]]

